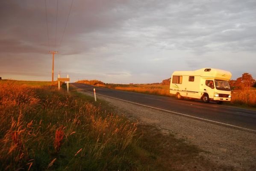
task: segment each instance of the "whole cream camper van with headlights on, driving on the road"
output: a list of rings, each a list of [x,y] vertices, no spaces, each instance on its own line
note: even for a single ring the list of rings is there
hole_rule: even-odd
[[[231,100],[228,81],[232,74],[215,68],[202,68],[196,71],[174,71],[171,76],[170,94],[178,99],[184,97],[210,100],[221,104]]]

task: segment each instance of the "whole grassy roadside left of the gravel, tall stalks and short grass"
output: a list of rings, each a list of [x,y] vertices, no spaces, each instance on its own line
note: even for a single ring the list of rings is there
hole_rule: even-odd
[[[65,88],[65,87],[64,87]],[[209,170],[194,145],[49,82],[0,81],[0,170]]]

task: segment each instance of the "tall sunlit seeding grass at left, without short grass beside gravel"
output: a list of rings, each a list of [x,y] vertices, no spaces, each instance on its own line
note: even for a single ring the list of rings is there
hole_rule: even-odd
[[[0,170],[131,170],[136,123],[56,86],[0,82]]]

